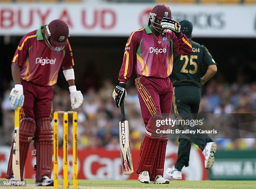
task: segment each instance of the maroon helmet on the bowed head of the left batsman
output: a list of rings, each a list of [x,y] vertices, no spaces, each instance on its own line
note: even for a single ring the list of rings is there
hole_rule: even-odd
[[[45,40],[46,44],[52,50],[56,50],[54,46],[61,46],[61,49],[67,45],[69,37],[69,26],[61,19],[52,20],[46,25]]]

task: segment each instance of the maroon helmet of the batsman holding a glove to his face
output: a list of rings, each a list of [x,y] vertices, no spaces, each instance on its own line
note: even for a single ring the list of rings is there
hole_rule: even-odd
[[[156,5],[149,13],[148,25],[152,25],[156,31],[163,31],[161,24],[156,23],[156,18],[162,20],[164,17],[172,19],[172,12],[166,5]]]

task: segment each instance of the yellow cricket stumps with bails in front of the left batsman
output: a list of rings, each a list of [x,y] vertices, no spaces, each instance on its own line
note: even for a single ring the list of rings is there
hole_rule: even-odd
[[[63,187],[67,188],[68,183],[68,115],[73,117],[73,187],[77,188],[77,112],[57,111],[54,112],[54,188],[58,187],[58,115],[63,114]]]

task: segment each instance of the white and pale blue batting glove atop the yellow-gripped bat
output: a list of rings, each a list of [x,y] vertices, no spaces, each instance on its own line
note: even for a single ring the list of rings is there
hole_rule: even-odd
[[[17,107],[22,107],[24,103],[23,86],[21,84],[15,84],[10,92],[9,100],[12,105],[12,109],[15,110]]]

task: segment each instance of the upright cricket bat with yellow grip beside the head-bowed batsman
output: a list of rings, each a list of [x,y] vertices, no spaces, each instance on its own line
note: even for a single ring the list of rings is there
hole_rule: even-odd
[[[20,107],[15,109],[13,140],[13,175],[16,181],[20,181]]]

